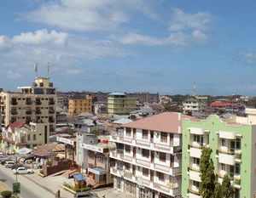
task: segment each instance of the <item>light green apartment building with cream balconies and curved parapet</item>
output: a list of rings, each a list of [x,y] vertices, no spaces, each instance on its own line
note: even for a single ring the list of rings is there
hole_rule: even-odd
[[[236,190],[234,197],[256,197],[256,125],[224,122],[215,115],[199,122],[183,120],[183,197],[201,197],[199,165],[203,146],[212,149],[219,183],[228,173]]]

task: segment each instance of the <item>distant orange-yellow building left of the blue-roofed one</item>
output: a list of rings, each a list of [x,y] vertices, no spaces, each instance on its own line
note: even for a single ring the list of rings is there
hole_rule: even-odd
[[[69,113],[92,112],[92,97],[86,95],[83,99],[69,99],[68,100]]]

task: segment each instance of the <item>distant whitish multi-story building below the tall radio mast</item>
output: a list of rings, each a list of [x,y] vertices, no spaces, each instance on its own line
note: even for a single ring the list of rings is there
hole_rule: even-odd
[[[207,109],[207,97],[195,96],[183,102],[183,113],[203,112]]]

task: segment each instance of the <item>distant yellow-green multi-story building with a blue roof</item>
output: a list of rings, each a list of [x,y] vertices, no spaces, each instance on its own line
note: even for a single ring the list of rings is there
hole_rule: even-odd
[[[129,115],[137,109],[137,99],[130,98],[125,93],[110,93],[108,95],[108,114]]]

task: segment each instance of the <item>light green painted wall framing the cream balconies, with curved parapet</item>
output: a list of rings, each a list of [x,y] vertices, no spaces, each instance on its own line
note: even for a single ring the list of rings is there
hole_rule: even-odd
[[[209,116],[207,120],[201,122],[191,122],[183,120],[183,165],[182,165],[182,195],[186,197],[189,188],[189,127],[198,127],[209,130],[209,146],[212,149],[212,160],[217,171],[216,150],[218,149],[218,131],[234,132],[241,134],[241,198],[251,198],[252,186],[251,175],[252,169],[252,146],[253,146],[253,127],[251,125],[228,125],[219,120],[218,116]],[[254,187],[255,188],[255,187]]]

